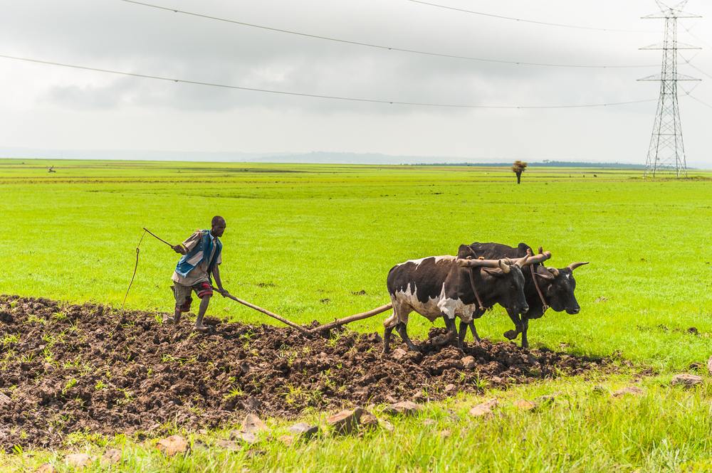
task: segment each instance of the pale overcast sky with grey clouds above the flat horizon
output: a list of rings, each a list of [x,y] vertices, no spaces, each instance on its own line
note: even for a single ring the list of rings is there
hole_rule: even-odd
[[[659,11],[655,1],[428,2],[451,9],[413,0],[145,0],[177,11],[124,0],[0,0],[0,55],[386,102],[0,58],[0,148],[645,164],[660,85],[637,79],[661,68],[661,51],[639,49],[662,41],[664,20],[641,19]],[[679,73],[703,79],[679,83],[686,158],[712,169],[712,2],[690,0],[685,11],[702,18],[679,20],[678,41],[701,49],[681,51]]]

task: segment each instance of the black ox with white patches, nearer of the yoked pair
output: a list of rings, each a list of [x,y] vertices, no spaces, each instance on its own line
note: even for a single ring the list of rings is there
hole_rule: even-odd
[[[546,255],[537,255],[545,260]],[[393,314],[383,322],[383,352],[388,353],[391,333],[396,329],[412,351],[419,351],[407,333],[408,317],[417,312],[429,321],[442,317],[448,334],[434,340],[446,344],[457,336],[455,317],[469,326],[479,340],[473,319],[480,307],[501,306],[516,314],[526,313],[522,267],[528,256],[518,260],[467,260],[473,257],[467,245],[461,245],[457,256],[431,256],[395,265],[388,273],[388,294]],[[479,300],[478,300],[479,299]],[[482,311],[484,312],[484,311]],[[461,325],[462,326],[462,325]]]

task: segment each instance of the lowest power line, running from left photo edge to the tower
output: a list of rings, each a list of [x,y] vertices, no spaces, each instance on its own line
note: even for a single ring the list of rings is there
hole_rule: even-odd
[[[357,98],[357,97],[337,97],[335,95],[305,94],[305,93],[300,93],[300,92],[286,92],[284,90],[256,89],[253,87],[240,87],[239,85],[206,83],[206,82],[199,82],[197,80],[164,78],[164,77],[160,77],[158,75],[125,73],[125,72],[121,72],[121,71],[117,71],[117,70],[89,68],[89,67],[86,67],[83,65],[52,63],[52,62],[46,61],[46,60],[17,58],[15,56],[9,56],[9,55],[0,55],[0,58],[23,60],[23,61],[27,61],[30,63],[58,65],[58,66],[61,66],[64,68],[93,70],[93,71],[100,72],[100,73],[128,75],[128,76],[135,77],[135,78],[166,80],[169,82],[193,84],[193,85],[206,85],[209,87],[221,87],[221,88],[225,88],[225,89],[250,90],[252,92],[265,92],[265,93],[269,93],[269,94],[279,94],[279,95],[296,95],[298,97],[311,97],[311,98],[330,99],[330,100],[346,100],[349,102],[370,102],[370,103],[382,103],[382,104],[389,104],[389,105],[414,105],[414,106],[418,106],[418,107],[483,108],[483,109],[553,109],[553,108],[612,107],[614,105],[629,105],[629,104],[642,103],[642,102],[654,102],[655,100],[657,100],[657,99],[634,100],[632,102],[614,102],[614,103],[589,104],[589,105],[535,105],[535,106],[455,105],[455,104],[438,104],[438,103],[424,103],[424,102],[398,102],[396,100],[375,100],[375,99],[362,99],[362,98]]]

